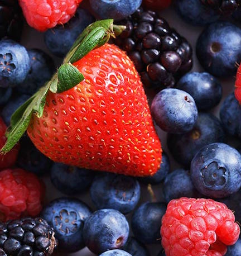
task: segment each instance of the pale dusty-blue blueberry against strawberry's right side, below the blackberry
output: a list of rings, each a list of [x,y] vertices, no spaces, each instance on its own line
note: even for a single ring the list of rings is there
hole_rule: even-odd
[[[162,130],[175,134],[190,131],[197,120],[194,98],[179,89],[168,88],[157,93],[151,112]]]

